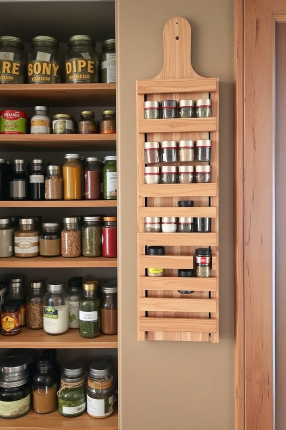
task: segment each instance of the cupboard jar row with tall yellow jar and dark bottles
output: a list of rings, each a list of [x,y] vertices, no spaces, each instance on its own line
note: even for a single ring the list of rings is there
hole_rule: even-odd
[[[34,159],[0,159],[0,200],[116,200],[116,156],[66,154],[61,167]]]

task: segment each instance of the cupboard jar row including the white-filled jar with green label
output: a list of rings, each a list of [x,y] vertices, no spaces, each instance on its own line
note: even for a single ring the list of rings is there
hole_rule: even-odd
[[[0,280],[3,289],[1,304],[2,335],[21,333],[28,329],[44,329],[49,335],[61,335],[68,329],[78,329],[81,337],[90,339],[117,334],[117,280],[107,279],[100,285],[99,279],[75,276],[63,284],[45,284],[41,280],[31,281],[26,297],[25,277],[11,275]]]

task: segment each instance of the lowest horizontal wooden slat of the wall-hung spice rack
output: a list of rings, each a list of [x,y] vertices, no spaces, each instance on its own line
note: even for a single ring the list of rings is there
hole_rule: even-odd
[[[217,319],[188,318],[139,318],[139,330],[151,332],[198,332],[217,331]]]

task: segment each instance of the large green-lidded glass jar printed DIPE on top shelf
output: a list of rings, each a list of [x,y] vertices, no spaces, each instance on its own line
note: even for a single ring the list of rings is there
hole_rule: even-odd
[[[72,36],[65,58],[66,83],[97,83],[99,55],[95,41],[85,34]]]

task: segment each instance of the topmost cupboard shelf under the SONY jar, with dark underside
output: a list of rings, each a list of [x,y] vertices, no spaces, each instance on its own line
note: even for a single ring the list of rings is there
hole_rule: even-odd
[[[115,106],[115,88],[114,83],[5,84],[0,86],[0,105]]]

